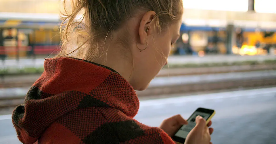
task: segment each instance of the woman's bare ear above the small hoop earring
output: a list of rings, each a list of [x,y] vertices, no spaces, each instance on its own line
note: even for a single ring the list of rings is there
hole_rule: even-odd
[[[151,25],[153,25],[152,20],[155,15],[156,13],[154,11],[147,11],[142,17],[139,27],[139,38],[141,44],[145,44],[147,36],[153,32],[154,27]]]

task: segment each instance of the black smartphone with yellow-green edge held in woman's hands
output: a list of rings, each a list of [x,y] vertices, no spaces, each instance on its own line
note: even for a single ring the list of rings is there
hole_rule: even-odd
[[[206,125],[210,122],[211,118],[215,115],[215,110],[207,108],[198,108],[193,114],[188,118],[188,124],[183,125],[172,137],[174,141],[179,144],[183,144],[188,133],[196,126],[196,116],[200,115],[206,120]]]

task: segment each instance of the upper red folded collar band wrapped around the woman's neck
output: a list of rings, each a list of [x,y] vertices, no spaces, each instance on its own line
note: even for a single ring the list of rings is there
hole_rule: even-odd
[[[129,82],[114,69],[74,58],[46,59],[39,89],[47,94],[78,91],[134,117],[139,100]],[[41,79],[41,80],[42,80]]]

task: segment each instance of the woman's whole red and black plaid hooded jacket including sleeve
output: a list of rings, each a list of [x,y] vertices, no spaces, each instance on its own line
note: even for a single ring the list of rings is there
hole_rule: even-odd
[[[72,58],[47,59],[12,122],[25,144],[174,143],[133,119],[139,100],[116,71]]]

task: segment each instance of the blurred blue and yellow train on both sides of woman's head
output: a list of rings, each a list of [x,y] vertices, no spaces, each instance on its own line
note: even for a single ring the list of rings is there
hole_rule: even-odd
[[[0,56],[26,57],[55,55],[59,51],[58,14],[0,15]],[[276,26],[276,25],[275,25]],[[171,55],[205,55],[227,53],[227,25],[206,24],[181,26],[181,38],[173,45]],[[235,26],[232,53],[264,55],[276,45],[276,27],[269,29]],[[275,51],[275,50],[274,50]]]

